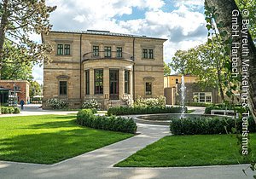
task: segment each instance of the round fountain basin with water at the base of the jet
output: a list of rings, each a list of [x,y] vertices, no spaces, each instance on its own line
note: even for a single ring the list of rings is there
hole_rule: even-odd
[[[170,125],[170,118],[180,118],[181,113],[157,113],[157,114],[142,114],[129,116],[139,124],[157,124],[157,125]],[[220,115],[211,114],[190,114],[186,113],[187,118],[198,118],[198,117],[224,117]]]

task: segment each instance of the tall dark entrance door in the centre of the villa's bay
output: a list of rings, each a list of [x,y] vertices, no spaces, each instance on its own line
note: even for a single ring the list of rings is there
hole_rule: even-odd
[[[109,70],[109,98],[119,99],[119,70]]]

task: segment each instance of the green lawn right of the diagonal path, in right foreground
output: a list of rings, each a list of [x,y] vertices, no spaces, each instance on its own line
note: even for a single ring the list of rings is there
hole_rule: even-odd
[[[250,144],[256,159],[256,134]],[[166,136],[115,166],[168,167],[201,165],[237,165],[248,163],[239,153],[236,136]]]

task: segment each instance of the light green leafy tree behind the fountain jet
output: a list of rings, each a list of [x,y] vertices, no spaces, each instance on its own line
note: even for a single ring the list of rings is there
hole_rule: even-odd
[[[172,58],[172,68],[182,74],[194,74],[204,86],[217,87],[224,101],[224,59],[229,56],[221,51],[223,46],[216,38],[189,50],[177,50]]]

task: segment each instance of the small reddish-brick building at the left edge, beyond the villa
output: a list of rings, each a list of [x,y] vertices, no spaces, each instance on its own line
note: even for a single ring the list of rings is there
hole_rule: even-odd
[[[26,104],[30,101],[29,82],[26,80],[0,80],[0,88],[11,91],[12,95],[17,96],[18,103],[20,100],[25,101]]]

